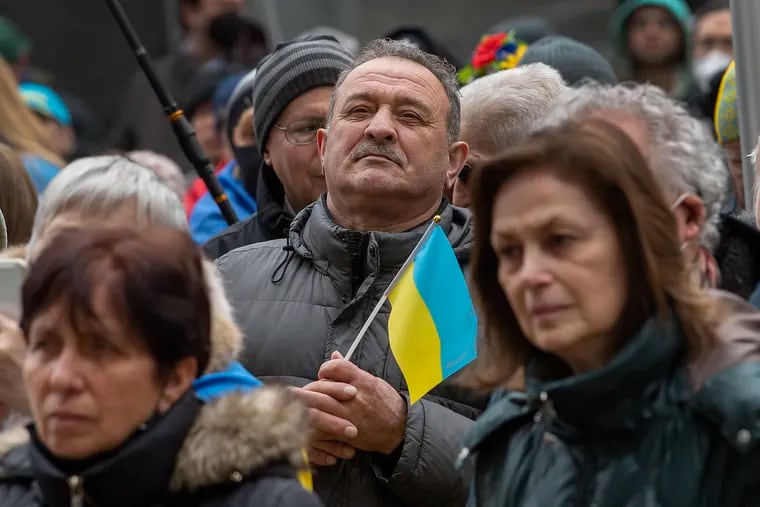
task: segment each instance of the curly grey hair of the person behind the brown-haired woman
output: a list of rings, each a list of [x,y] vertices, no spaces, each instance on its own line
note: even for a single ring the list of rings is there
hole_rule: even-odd
[[[723,152],[707,126],[659,88],[633,83],[591,83],[568,89],[554,102],[544,124],[556,126],[598,112],[642,120],[652,172],[671,199],[684,192],[702,199],[706,219],[701,243],[714,251],[720,240],[718,221],[728,172]]]

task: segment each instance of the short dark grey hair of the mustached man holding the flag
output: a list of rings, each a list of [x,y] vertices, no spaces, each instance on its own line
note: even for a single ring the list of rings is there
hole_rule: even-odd
[[[403,60],[409,60],[422,65],[438,78],[438,81],[443,86],[443,89],[446,91],[446,96],[449,99],[449,113],[447,116],[449,143],[458,141],[461,106],[459,104],[459,83],[456,77],[456,69],[442,58],[426,53],[405,42],[391,39],[373,40],[361,50],[353,63],[340,73],[338,81],[335,83],[335,90],[333,90],[332,96],[330,97],[330,109],[327,115],[328,125],[332,120],[333,108],[335,107],[335,95],[346,80],[346,77],[348,77],[348,75],[360,65],[371,60],[377,60],[378,58],[400,58]]]

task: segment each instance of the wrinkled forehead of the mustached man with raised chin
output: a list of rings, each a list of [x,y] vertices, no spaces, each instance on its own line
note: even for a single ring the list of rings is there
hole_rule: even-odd
[[[346,76],[341,92],[344,97],[361,93],[415,95],[431,102],[446,96],[443,84],[424,65],[397,57],[376,58],[359,65]]]

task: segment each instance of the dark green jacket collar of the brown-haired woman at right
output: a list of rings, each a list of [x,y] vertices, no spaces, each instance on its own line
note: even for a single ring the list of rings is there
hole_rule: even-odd
[[[663,408],[666,400],[688,397],[685,372],[677,365],[682,342],[674,314],[652,317],[597,370],[542,380],[534,376],[541,361],[535,358],[527,367],[526,392],[558,431],[634,430],[638,422]],[[674,377],[676,382],[664,382]]]

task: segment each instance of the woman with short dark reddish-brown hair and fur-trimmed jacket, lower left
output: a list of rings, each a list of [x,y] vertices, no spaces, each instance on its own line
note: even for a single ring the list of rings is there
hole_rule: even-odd
[[[48,243],[22,293],[32,438],[0,464],[0,505],[321,505],[296,477],[305,410],[219,371],[213,291],[175,229]]]

